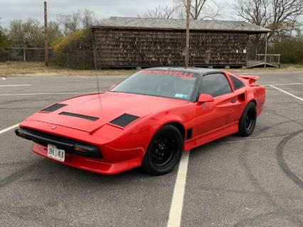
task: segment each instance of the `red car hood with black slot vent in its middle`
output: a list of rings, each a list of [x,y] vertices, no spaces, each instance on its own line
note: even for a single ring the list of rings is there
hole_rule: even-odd
[[[168,110],[187,102],[187,100],[166,97],[106,92],[63,100],[58,102],[65,105],[60,109],[53,112],[39,111],[28,120],[94,132],[102,125],[124,114],[141,118],[153,112]]]

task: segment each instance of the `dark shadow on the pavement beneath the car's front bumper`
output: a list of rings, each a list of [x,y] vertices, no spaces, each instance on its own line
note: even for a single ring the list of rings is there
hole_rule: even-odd
[[[43,184],[57,182],[58,184],[68,183],[72,186],[78,185],[79,182],[82,182],[81,186],[91,186],[92,184],[95,184],[96,186],[118,186],[119,184],[123,184],[124,186],[125,184],[157,184],[159,186],[161,182],[163,185],[165,185],[166,180],[174,181],[177,171],[176,168],[174,171],[164,176],[150,176],[149,174],[144,173],[144,171],[138,167],[115,175],[103,175],[68,167],[40,157],[38,157],[38,159],[38,162],[26,167],[25,169],[21,169],[19,173],[22,173],[22,176],[25,176],[26,173],[28,173],[28,176],[26,177],[28,178],[26,179],[27,182],[43,182]],[[15,179],[16,177],[13,176],[13,178]]]

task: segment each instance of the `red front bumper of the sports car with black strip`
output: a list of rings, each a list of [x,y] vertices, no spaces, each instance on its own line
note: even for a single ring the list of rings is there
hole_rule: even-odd
[[[52,130],[53,126],[57,128]],[[136,147],[132,149],[119,148],[119,146],[127,148],[127,144],[129,143],[126,141],[107,144],[108,139],[46,122],[23,121],[20,127],[20,129],[16,130],[18,137],[35,142],[33,152],[53,162],[98,174],[117,174],[139,167],[142,163],[142,156],[144,154],[142,149],[137,149]],[[26,133],[25,130],[31,133]],[[50,135],[50,138],[44,136],[40,138],[41,134]],[[60,149],[65,149],[65,161],[59,162],[47,157],[47,144],[53,144]],[[72,150],[72,147],[74,148],[76,145],[82,145],[86,149],[94,148],[95,152],[98,151],[98,154],[94,157],[93,155],[77,153]]]

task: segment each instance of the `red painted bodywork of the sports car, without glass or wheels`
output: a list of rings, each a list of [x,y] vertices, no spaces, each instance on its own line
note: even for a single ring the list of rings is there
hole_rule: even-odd
[[[140,72],[163,74],[164,71]],[[165,72],[168,72],[167,75],[184,78],[193,76],[193,73],[176,70]],[[233,75],[243,81],[245,86],[235,90],[230,82],[232,93],[220,95],[215,97],[213,102],[201,105],[166,97],[105,92],[63,100],[60,103],[66,104],[65,107],[54,112],[36,112],[21,122],[20,126],[97,146],[102,152],[102,159],[66,154],[65,162],[61,163],[100,174],[117,174],[141,165],[149,142],[164,125],[179,124],[184,129],[184,151],[188,151],[206,142],[238,132],[240,116],[251,101],[256,102],[259,116],[265,103],[265,88],[256,85],[255,81],[252,85],[252,79],[257,78],[240,77],[228,72],[225,72],[225,75],[229,82],[230,75]],[[102,100],[102,110],[99,98]],[[73,112],[100,119],[90,121],[59,115],[60,112]],[[124,113],[139,118],[124,128],[110,123]],[[56,128],[52,129],[54,126]],[[192,129],[192,137],[186,139],[186,132],[189,129]],[[35,144],[33,152],[46,157],[46,147],[41,144]]]

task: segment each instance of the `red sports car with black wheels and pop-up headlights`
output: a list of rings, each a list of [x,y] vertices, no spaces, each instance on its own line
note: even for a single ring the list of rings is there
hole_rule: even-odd
[[[265,103],[255,75],[201,68],[140,70],[105,93],[57,102],[21,122],[33,152],[100,174],[166,174],[182,152],[249,136]]]

